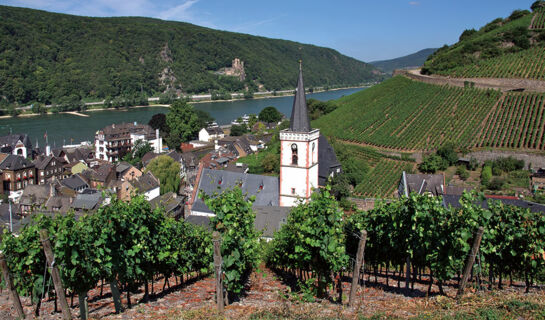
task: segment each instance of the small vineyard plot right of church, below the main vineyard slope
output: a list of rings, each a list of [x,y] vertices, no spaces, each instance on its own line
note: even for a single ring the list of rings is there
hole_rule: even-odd
[[[416,164],[382,154],[373,148],[344,144],[355,161],[365,162],[370,170],[355,187],[354,194],[366,198],[391,198],[403,171],[413,172]]]

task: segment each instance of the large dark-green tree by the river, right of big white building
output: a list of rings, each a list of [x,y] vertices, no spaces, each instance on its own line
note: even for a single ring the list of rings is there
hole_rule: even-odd
[[[195,138],[201,127],[199,116],[185,101],[176,100],[166,115],[168,126],[167,145],[170,149],[180,149],[182,142]]]

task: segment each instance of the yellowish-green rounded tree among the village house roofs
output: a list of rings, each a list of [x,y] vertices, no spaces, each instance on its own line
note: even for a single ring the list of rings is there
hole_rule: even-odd
[[[154,158],[146,167],[161,183],[161,194],[177,193],[180,188],[180,164],[167,155]]]

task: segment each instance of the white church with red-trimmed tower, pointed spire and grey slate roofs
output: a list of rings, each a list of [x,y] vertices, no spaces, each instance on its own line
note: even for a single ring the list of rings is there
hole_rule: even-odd
[[[280,176],[262,176],[214,168],[199,167],[197,181],[191,196],[188,221],[206,221],[214,213],[198,197],[198,192],[212,195],[238,186],[248,196],[255,196],[254,211],[256,227],[259,221],[268,221],[269,227],[277,230],[285,222],[291,207],[300,201],[308,201],[312,192],[327,183],[327,179],[340,173],[333,148],[312,129],[303,84],[303,71],[299,78],[293,100],[290,127],[280,132]],[[271,217],[274,212],[275,217]],[[201,219],[201,218],[205,219]],[[206,222],[199,222],[206,225]]]

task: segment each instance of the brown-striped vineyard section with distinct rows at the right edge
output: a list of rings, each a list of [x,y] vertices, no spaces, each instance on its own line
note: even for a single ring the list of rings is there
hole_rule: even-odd
[[[545,149],[545,94],[503,96],[477,135],[479,147]]]

